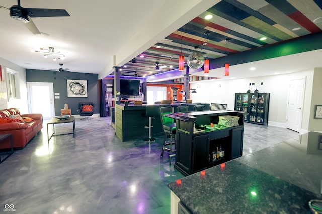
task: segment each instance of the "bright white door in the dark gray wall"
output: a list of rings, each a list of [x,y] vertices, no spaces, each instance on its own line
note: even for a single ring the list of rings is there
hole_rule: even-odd
[[[41,113],[44,120],[55,116],[53,83],[27,82],[29,112]]]

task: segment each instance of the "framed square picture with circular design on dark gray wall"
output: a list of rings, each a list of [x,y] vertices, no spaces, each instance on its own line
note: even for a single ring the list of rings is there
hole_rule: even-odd
[[[67,97],[87,97],[87,80],[67,80]]]

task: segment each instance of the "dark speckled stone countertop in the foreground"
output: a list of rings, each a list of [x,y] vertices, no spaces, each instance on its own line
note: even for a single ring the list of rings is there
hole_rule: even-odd
[[[309,213],[321,198],[322,155],[306,146],[279,143],[168,187],[191,213]]]

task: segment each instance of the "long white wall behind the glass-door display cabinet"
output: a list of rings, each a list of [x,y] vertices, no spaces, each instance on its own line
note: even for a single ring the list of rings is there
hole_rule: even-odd
[[[224,103],[227,104],[227,109],[233,110],[235,93],[246,93],[249,87],[252,92],[257,89],[259,92],[270,93],[269,125],[286,127],[290,80],[306,77],[302,129],[308,130],[313,73],[311,69],[283,75],[191,82],[191,88],[196,89],[197,93],[191,93],[190,99],[194,103]],[[255,83],[255,85],[249,86],[249,83]]]

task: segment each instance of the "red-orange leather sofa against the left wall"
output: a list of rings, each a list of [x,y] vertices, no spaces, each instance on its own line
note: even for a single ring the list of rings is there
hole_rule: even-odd
[[[31,121],[17,121],[10,118],[10,115],[32,118]],[[26,119],[27,120],[27,119]],[[26,144],[40,132],[43,127],[42,114],[23,114],[17,108],[0,110],[0,134],[11,133],[13,136],[14,148],[22,149]],[[10,148],[10,140],[0,143],[0,149]]]

